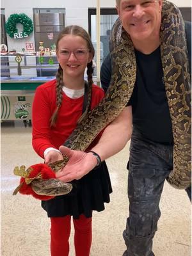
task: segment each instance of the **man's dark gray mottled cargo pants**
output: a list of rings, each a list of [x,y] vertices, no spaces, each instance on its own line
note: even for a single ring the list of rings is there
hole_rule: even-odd
[[[154,256],[152,239],[161,215],[159,200],[173,164],[173,146],[146,140],[134,129],[127,168],[129,218],[123,256]]]

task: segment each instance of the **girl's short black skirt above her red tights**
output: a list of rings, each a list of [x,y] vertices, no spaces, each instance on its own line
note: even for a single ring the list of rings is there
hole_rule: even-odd
[[[68,195],[42,201],[42,207],[49,218],[70,215],[77,219],[81,214],[90,218],[92,211],[103,211],[104,203],[110,202],[112,188],[105,161],[80,180],[74,180],[72,184],[73,189]]]

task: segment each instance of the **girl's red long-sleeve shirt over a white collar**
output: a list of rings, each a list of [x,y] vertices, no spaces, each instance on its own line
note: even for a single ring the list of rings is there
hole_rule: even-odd
[[[62,92],[63,93],[63,92]],[[104,91],[95,84],[92,85],[93,109],[104,97]],[[50,127],[50,118],[56,109],[56,80],[49,81],[36,88],[33,100],[33,148],[44,158],[46,148],[59,148],[76,128],[77,120],[82,115],[83,96],[70,99],[63,93],[63,101],[58,111],[55,127]]]

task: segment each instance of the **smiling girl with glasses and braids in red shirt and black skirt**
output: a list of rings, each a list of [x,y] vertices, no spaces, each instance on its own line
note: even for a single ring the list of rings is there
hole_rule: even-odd
[[[99,104],[104,92],[92,81],[94,48],[86,31],[68,26],[56,43],[59,68],[56,79],[38,86],[33,101],[33,148],[45,163],[61,160],[58,150],[82,113]],[[87,67],[88,83],[84,81]],[[92,97],[87,92],[92,90]],[[93,145],[92,145],[93,147]],[[108,168],[102,162],[82,179],[76,180],[68,195],[42,201],[51,218],[51,255],[67,256],[70,219],[73,216],[76,256],[90,255],[92,211],[103,211],[112,192]]]

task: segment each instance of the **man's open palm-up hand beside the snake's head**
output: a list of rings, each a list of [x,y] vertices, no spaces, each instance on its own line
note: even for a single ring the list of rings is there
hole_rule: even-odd
[[[79,180],[97,166],[97,158],[92,152],[84,153],[64,146],[60,147],[60,152],[69,158],[67,165],[56,173],[56,178],[63,182]]]

